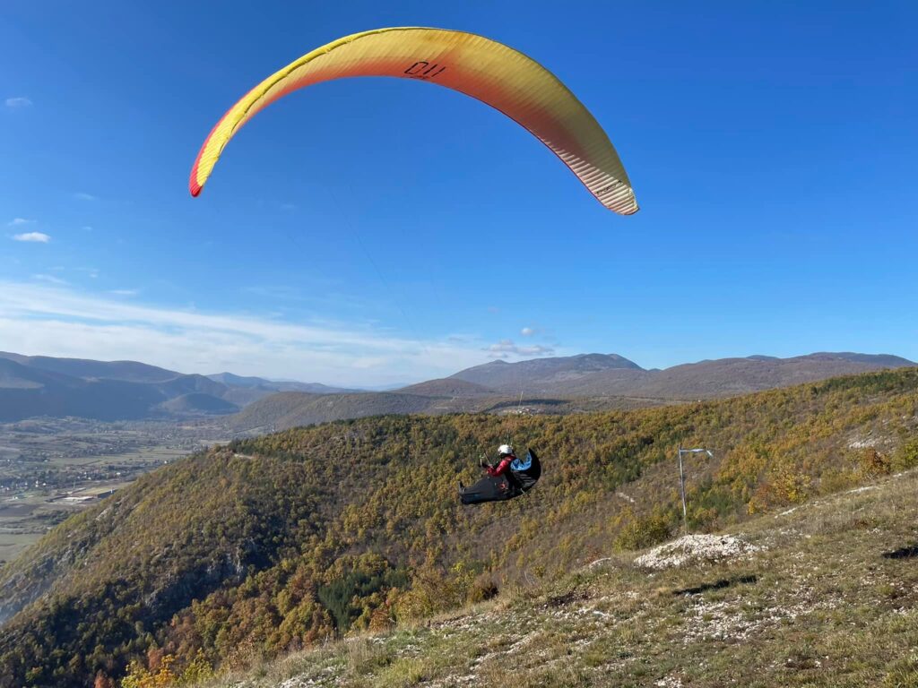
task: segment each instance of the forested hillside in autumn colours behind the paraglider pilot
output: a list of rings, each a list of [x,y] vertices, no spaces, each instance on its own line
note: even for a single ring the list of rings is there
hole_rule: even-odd
[[[918,370],[577,416],[386,416],[237,441],[141,478],[0,571],[2,685],[83,686],[137,660],[243,666],[553,579],[918,463]],[[543,458],[509,503],[456,481],[511,438]]]

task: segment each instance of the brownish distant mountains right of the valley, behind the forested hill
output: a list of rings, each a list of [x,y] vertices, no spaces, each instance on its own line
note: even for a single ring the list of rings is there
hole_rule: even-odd
[[[918,365],[889,355],[813,353],[700,361],[644,370],[617,354],[581,354],[507,363],[492,361],[452,377],[393,392],[284,394],[267,397],[229,418],[238,432],[270,431],[342,418],[456,412],[565,414],[664,405],[748,394],[838,375]]]

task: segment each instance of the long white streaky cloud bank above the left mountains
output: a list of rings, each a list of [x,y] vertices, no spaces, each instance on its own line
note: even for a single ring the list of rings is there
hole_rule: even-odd
[[[443,377],[487,360],[480,339],[408,338],[362,323],[201,313],[141,305],[118,294],[2,281],[0,341],[6,350],[50,356],[347,385]]]

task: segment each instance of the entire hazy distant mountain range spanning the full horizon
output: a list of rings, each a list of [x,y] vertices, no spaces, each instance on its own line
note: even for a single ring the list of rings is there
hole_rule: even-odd
[[[567,413],[747,394],[918,363],[899,356],[813,353],[700,361],[644,370],[617,354],[492,361],[386,392],[274,382],[230,372],[183,374],[137,361],[87,361],[0,352],[0,421],[29,416],[98,420],[229,416],[237,431],[385,414]]]

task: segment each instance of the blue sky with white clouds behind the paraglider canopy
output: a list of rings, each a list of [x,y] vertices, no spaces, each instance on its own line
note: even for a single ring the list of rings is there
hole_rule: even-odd
[[[802,5],[7,0],[0,350],[367,385],[588,351],[918,359],[918,5]],[[641,212],[392,79],[272,105],[188,195],[252,85],[402,25],[541,61]]]

